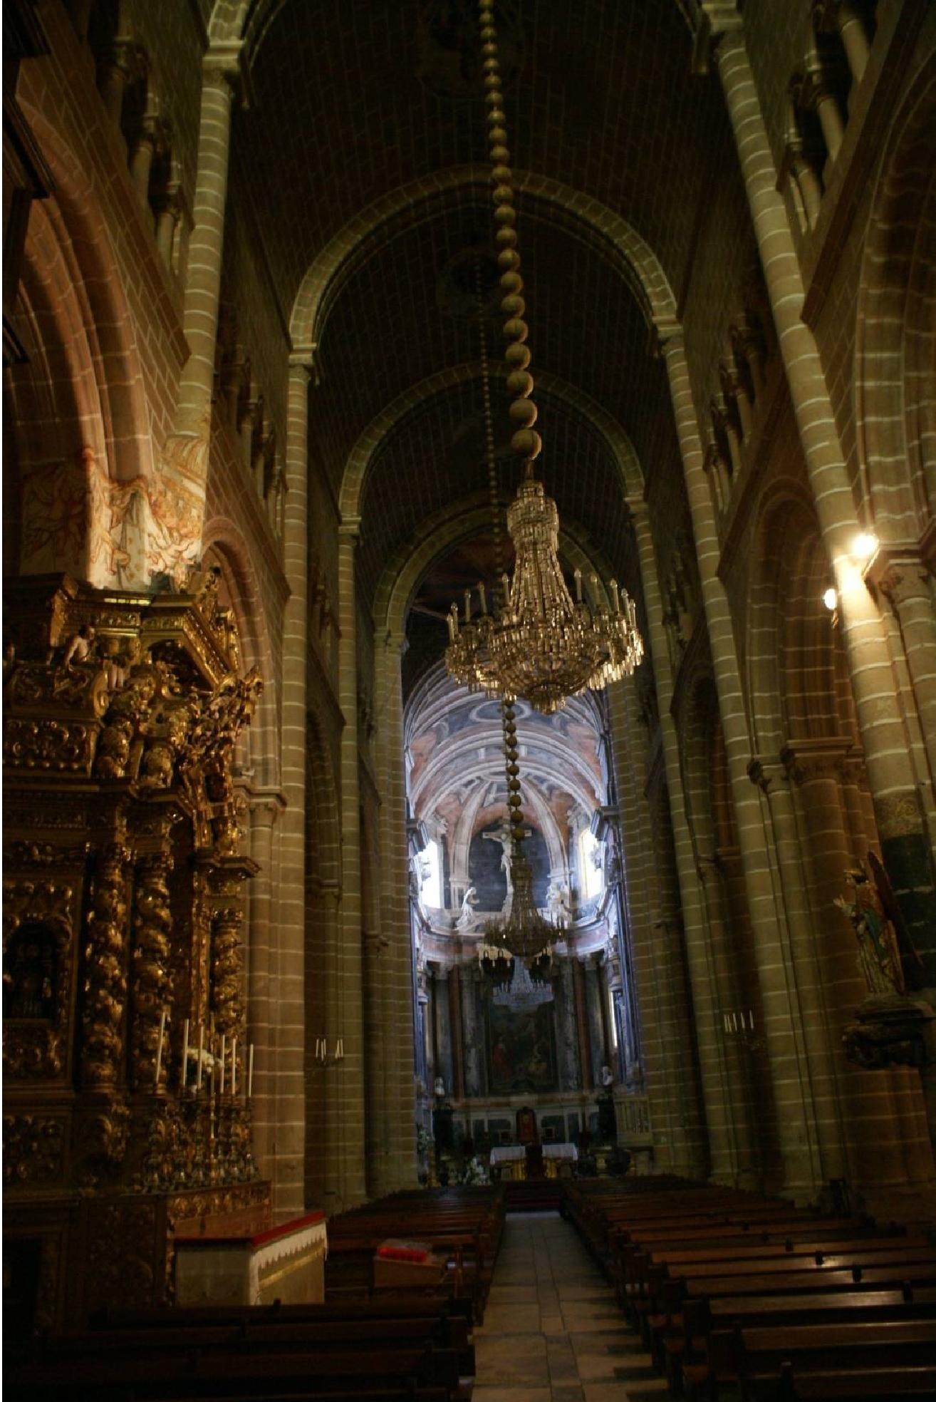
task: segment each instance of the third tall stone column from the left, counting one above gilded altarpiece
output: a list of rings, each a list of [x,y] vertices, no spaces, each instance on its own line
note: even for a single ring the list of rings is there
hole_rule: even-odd
[[[338,527],[338,702],[340,739],[340,862],[342,906],[338,948],[329,960],[328,1008],[335,1035],[345,1040],[340,1077],[329,1081],[329,1120],[335,1124],[333,1190],[343,1209],[367,1196],[364,1182],[364,1046],[360,890],[360,774],[357,756],[357,610],[355,551],[359,516],[343,516]],[[331,1098],[336,1088],[335,1099]]]

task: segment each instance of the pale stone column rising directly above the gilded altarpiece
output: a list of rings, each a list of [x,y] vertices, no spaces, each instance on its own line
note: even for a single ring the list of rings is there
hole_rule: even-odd
[[[212,43],[202,60],[198,177],[182,321],[191,353],[179,377],[174,432],[163,450],[170,509],[182,527],[179,541],[167,548],[171,554],[164,551],[160,564],[177,578],[202,552],[231,104],[240,79],[240,39]]]

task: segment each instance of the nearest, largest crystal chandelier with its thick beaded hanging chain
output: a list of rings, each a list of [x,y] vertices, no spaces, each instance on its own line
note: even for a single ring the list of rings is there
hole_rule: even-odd
[[[472,611],[471,590],[465,592],[464,618],[453,604],[448,615],[446,666],[455,681],[471,691],[514,701],[525,697],[538,711],[549,715],[566,698],[587,687],[604,687],[633,672],[643,656],[643,642],[636,625],[636,610],[626,590],[610,582],[611,607],[590,608],[581,597],[581,573],[576,571],[573,601],[558,557],[559,512],[546,496],[542,482],[532,472],[542,440],[534,423],[537,405],[531,394],[530,328],[523,320],[520,254],[517,252],[516,210],[510,151],[504,129],[497,31],[492,0],[479,0],[481,43],[488,104],[492,181],[500,289],[500,307],[506,313],[507,390],[514,397],[510,421],[514,426],[510,447],[524,463],[524,481],[507,510],[507,530],[514,545],[513,580],[506,573],[493,590],[488,611],[485,586],[478,585],[478,613]],[[490,390],[486,350],[482,336],[482,383],[488,475],[496,512],[493,432],[490,428]],[[496,512],[496,522],[499,515]],[[597,576],[591,576],[597,586]]]

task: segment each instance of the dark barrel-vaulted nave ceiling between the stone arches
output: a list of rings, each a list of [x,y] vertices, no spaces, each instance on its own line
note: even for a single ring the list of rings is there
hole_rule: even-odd
[[[724,114],[716,84],[691,73],[673,0],[502,0],[497,14],[538,468],[563,529],[633,590],[622,471],[597,419],[626,433],[647,478],[667,478],[678,453],[646,304],[598,206],[646,241],[678,303]],[[425,541],[440,512],[485,501],[469,289],[475,259],[489,275],[493,219],[476,3],[256,0],[248,34],[259,36],[254,98],[237,118],[237,142],[286,317],[329,241],[355,223],[373,226],[363,240],[356,233],[325,289],[310,391],[311,458],[336,501],[349,456],[378,423],[357,552],[371,606],[388,564]],[[545,195],[538,181],[549,182]],[[581,195],[596,202],[597,229],[569,206]],[[499,321],[488,322],[496,374]],[[495,418],[506,443],[497,384]],[[502,491],[511,496],[507,467]],[[626,491],[642,489],[632,472]],[[471,557],[469,540],[458,548]],[[415,593],[413,673],[416,656],[444,642],[433,613],[451,568],[440,564],[439,578],[434,568]]]

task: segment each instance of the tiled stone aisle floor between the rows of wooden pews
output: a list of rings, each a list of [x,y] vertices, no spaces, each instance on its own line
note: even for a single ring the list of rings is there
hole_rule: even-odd
[[[507,1217],[483,1328],[474,1402],[663,1402],[614,1294],[558,1213]]]

